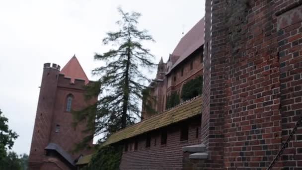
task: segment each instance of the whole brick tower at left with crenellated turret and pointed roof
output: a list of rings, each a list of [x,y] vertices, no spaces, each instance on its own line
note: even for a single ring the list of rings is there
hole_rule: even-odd
[[[72,125],[71,113],[96,102],[96,98],[84,99],[84,86],[89,83],[75,56],[61,71],[59,65],[44,64],[29,170],[73,170],[75,160],[91,152],[73,152],[87,134],[82,133],[84,123]]]

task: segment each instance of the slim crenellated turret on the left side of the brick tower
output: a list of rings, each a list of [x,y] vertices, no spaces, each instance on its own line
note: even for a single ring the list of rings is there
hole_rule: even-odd
[[[59,72],[56,65],[54,67],[51,67],[50,63],[44,65],[29,154],[29,165],[33,167],[42,164],[44,148],[49,143]]]

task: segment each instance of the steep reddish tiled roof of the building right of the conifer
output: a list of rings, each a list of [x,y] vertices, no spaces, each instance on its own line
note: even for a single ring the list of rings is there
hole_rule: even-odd
[[[204,27],[205,27],[205,18],[203,17],[200,21],[197,22],[191,28],[191,30],[184,35],[177,46],[175,47],[172,55],[180,56],[178,60],[173,63],[173,66],[168,70],[166,74],[169,74],[170,71],[186,59],[190,54],[195,50],[201,47],[204,44]]]

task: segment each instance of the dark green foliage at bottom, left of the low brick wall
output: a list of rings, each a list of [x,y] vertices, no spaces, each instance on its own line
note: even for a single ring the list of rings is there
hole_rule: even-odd
[[[119,170],[122,154],[121,146],[101,147],[83,170]]]

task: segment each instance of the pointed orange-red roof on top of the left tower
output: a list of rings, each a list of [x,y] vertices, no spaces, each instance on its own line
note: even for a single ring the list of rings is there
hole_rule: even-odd
[[[60,72],[61,74],[65,75],[65,77],[71,78],[72,83],[75,82],[75,79],[81,79],[85,81],[85,84],[89,83],[89,80],[82,69],[81,65],[79,64],[77,58],[72,57],[70,61],[63,67]]]

